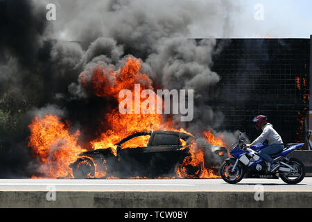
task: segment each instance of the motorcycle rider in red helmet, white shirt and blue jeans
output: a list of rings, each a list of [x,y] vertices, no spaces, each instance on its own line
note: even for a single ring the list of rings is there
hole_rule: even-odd
[[[268,140],[268,146],[261,149],[259,155],[267,161],[268,171],[275,171],[275,169],[279,167],[279,162],[275,162],[270,155],[283,150],[284,145],[281,136],[275,131],[272,124],[268,123],[268,118],[266,116],[259,115],[254,117],[252,121],[256,123],[257,130],[260,128],[262,129],[262,133],[257,139],[254,139],[254,142],[247,144],[247,147],[254,144],[262,144],[265,140]]]

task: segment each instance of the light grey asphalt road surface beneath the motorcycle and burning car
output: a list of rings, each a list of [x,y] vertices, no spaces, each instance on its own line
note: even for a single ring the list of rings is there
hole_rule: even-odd
[[[254,191],[259,184],[263,191],[312,191],[312,178],[297,185],[287,185],[281,179],[243,179],[236,185],[222,179],[0,179],[0,191]]]

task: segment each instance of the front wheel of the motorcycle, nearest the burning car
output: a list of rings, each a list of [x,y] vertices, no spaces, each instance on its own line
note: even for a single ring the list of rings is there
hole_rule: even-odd
[[[245,169],[240,163],[236,164],[233,169],[234,163],[230,161],[223,162],[220,167],[220,176],[225,182],[234,184],[241,181],[245,175]]]

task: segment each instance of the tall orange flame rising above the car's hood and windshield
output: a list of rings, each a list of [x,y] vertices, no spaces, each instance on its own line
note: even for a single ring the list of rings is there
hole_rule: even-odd
[[[119,102],[119,92],[121,89],[130,89],[134,92],[135,83],[140,84],[140,92],[144,89],[153,89],[152,81],[146,74],[140,73],[140,60],[129,57],[127,62],[118,71],[112,69],[106,70],[103,66],[96,67],[94,76],[92,78],[92,87],[95,90],[96,96],[112,96]],[[84,75],[80,78],[80,82],[89,87]],[[114,83],[114,84],[112,84]],[[118,108],[112,112],[105,114],[105,124],[109,125],[112,130],[107,130],[101,133],[101,136],[91,142],[94,149],[107,148],[112,149],[112,153],[116,155],[116,142],[121,139],[137,132],[159,130],[162,126],[161,114],[135,114],[135,105],[139,106],[140,103],[132,106],[132,114],[121,114]],[[140,107],[139,107],[140,108]],[[141,141],[138,141],[141,139]],[[146,138],[139,137],[135,142],[138,144],[146,144]],[[128,148],[123,146],[122,148]]]

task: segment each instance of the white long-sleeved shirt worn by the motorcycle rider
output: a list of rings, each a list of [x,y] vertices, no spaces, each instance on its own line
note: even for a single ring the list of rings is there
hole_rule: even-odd
[[[252,144],[262,144],[266,139],[268,140],[269,146],[273,144],[283,144],[281,136],[273,129],[271,123],[266,123],[266,125],[262,127],[262,130],[261,135],[259,135],[257,139],[254,139]]]

